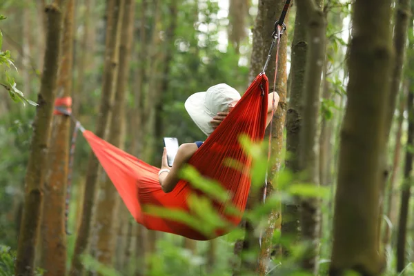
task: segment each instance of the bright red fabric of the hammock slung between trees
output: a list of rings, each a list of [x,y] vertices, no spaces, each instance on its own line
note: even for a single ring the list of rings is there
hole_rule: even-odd
[[[212,201],[217,214],[232,227],[217,228],[211,235],[206,235],[204,231],[188,224],[148,213],[143,207],[157,206],[168,210],[181,210],[186,215],[195,215],[187,199],[190,195],[203,195],[200,190],[188,181],[180,180],[171,193],[164,193],[158,181],[159,168],[150,166],[108,144],[88,130],[83,131],[83,136],[88,140],[126,207],[139,224],[150,230],[173,233],[190,239],[213,239],[233,230],[242,219],[241,214],[246,207],[250,190],[250,177],[246,171],[250,171],[251,159],[242,150],[238,138],[240,135],[247,135],[252,141],[263,140],[268,109],[267,95],[268,78],[260,74],[250,84],[232,112],[188,161],[188,164],[194,166],[203,177],[217,181],[229,192],[225,201]],[[237,160],[242,164],[242,168],[230,168],[224,164],[224,159],[228,158]],[[240,213],[226,213],[225,208],[229,204],[233,204]]]

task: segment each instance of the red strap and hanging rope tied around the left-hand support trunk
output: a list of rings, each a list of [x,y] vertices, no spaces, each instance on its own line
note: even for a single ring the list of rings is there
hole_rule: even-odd
[[[70,152],[69,152],[69,166],[68,166],[68,179],[67,179],[67,186],[66,186],[66,200],[65,200],[65,231],[66,235],[71,235],[68,229],[68,219],[69,219],[69,204],[70,204],[70,193],[72,188],[72,172],[73,172],[73,164],[74,164],[74,157],[75,157],[75,146],[76,146],[76,139],[77,139],[77,132],[81,130],[81,132],[85,131],[85,128],[81,125],[81,123],[75,119],[72,115],[72,98],[71,97],[63,97],[57,98],[55,100],[55,110],[53,111],[54,115],[65,115],[70,117],[72,121],[75,122],[75,128],[72,133],[72,139],[70,140]]]

